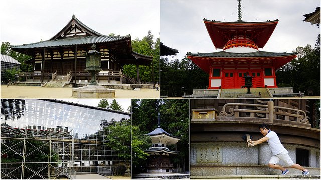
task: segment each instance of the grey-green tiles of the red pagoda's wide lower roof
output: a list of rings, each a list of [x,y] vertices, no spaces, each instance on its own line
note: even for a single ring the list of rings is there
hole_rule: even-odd
[[[187,55],[197,56],[197,57],[227,57],[227,58],[237,58],[237,57],[279,57],[279,56],[288,56],[288,55],[296,55],[296,53],[286,53],[286,52],[265,52],[265,51],[257,51],[250,53],[232,53],[232,52],[211,52],[211,53],[191,53],[188,52]]]

